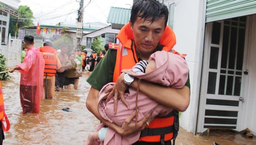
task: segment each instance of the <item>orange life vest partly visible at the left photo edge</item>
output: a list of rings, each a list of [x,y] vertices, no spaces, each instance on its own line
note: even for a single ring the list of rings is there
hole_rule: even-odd
[[[6,113],[4,112],[4,97],[2,92],[2,86],[0,82],[0,121],[2,121],[2,128],[6,132],[10,129],[10,122],[7,118]],[[6,127],[4,126],[3,121],[6,121]]]

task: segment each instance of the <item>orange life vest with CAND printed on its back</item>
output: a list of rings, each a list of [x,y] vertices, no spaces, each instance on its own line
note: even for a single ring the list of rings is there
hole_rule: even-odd
[[[55,76],[56,70],[58,67],[57,62],[57,51],[53,47],[50,46],[44,46],[40,48],[40,51],[43,55],[43,58],[45,59],[45,71],[44,76]]]

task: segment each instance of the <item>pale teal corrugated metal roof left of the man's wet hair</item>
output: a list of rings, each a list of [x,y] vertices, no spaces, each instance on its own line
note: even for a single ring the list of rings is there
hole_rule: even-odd
[[[121,7],[110,7],[108,13],[108,23],[112,24],[126,24],[129,22],[131,16],[131,9]]]

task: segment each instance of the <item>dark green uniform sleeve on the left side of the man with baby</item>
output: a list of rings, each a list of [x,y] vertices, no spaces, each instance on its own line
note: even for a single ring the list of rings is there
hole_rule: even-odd
[[[108,53],[98,63],[89,78],[86,80],[92,87],[100,91],[100,89],[109,82],[113,82],[113,74],[115,69],[115,60],[117,50],[108,49]]]

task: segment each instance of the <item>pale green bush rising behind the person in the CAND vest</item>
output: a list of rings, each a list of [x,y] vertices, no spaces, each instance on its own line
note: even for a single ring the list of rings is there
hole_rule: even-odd
[[[58,40],[53,42],[53,47],[55,49],[61,49],[62,45],[67,45],[69,51],[72,51],[74,49],[73,39],[70,36],[70,34],[66,33],[66,34],[62,35],[61,38],[59,38]]]

